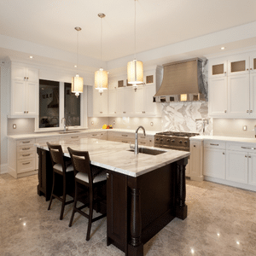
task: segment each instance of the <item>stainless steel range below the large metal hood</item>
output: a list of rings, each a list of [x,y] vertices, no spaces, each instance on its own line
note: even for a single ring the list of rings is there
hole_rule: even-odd
[[[164,131],[154,135],[154,147],[189,151],[189,137],[199,133]]]

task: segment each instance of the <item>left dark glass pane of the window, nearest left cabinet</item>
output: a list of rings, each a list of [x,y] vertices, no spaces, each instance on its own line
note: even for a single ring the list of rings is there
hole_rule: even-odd
[[[60,126],[60,83],[39,80],[39,128]]]

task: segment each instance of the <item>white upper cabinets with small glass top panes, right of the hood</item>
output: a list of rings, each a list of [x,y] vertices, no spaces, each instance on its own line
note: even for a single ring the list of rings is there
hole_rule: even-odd
[[[256,118],[256,52],[209,61],[209,116]]]

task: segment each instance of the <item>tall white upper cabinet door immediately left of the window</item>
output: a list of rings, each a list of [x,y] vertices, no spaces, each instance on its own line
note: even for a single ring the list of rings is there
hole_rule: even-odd
[[[26,82],[26,115],[38,114],[38,83]]]

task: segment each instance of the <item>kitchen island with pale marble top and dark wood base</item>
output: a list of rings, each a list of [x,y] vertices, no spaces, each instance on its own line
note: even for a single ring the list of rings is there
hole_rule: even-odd
[[[166,224],[175,217],[187,217],[185,166],[189,152],[143,147],[148,148],[147,154],[136,155],[125,143],[93,138],[60,143],[66,157],[67,147],[86,150],[92,165],[108,169],[107,243],[125,255],[143,255],[143,244]],[[48,199],[52,175],[49,151],[45,145],[37,147],[38,195]]]

